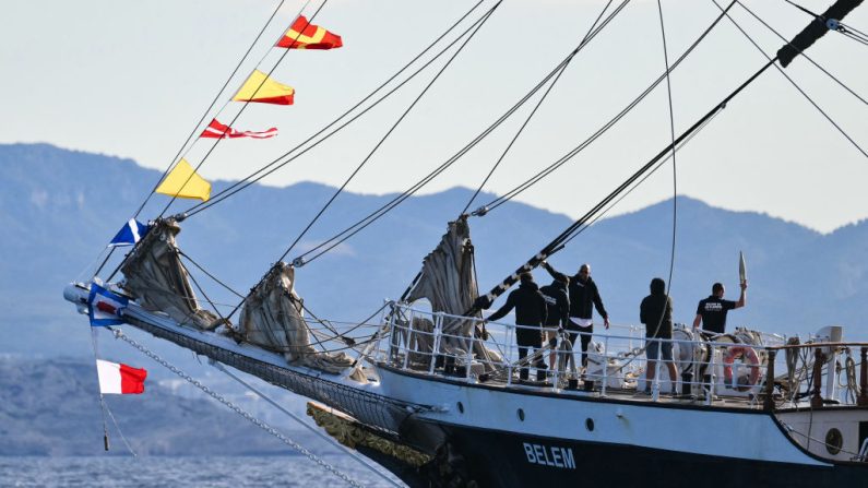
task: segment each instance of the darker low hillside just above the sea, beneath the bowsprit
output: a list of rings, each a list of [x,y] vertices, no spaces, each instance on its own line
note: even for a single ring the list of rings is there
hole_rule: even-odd
[[[178,396],[154,381],[142,395],[106,395],[123,438],[140,455],[287,454],[287,447],[225,407]],[[0,359],[0,455],[104,453],[92,362]],[[110,454],[129,454],[111,417]],[[293,437],[310,445],[311,435]]]

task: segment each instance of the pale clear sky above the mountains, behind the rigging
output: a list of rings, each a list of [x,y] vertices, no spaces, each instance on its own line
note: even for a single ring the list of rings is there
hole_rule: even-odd
[[[605,5],[602,0],[506,0],[385,142],[373,151],[442,62],[423,72],[335,138],[263,183],[344,183],[403,191],[447,160],[563,59]],[[618,4],[619,2],[614,2]],[[802,0],[822,12],[830,0]],[[47,142],[165,169],[274,11],[265,0],[34,0],[9,2],[0,16],[0,143]],[[245,130],[277,127],[266,141],[200,140],[186,154],[209,179],[239,179],[329,123],[397,71],[466,12],[471,1],[326,0],[320,24],[340,34],[331,51],[270,46],[295,15],[322,0],[287,0],[206,117]],[[485,0],[475,12],[494,4]],[[783,0],[745,5],[787,38],[810,21]],[[720,13],[711,0],[664,0],[671,61]],[[472,14],[478,16],[478,13]],[[766,51],[782,41],[736,5],[733,19]],[[868,32],[868,7],[845,24]],[[463,24],[466,25],[466,24]],[[283,59],[280,59],[283,55]],[[829,33],[808,55],[863,99],[868,48]],[[278,62],[280,59],[280,63]],[[295,105],[227,102],[255,67],[296,88]],[[671,75],[680,133],[765,63],[724,20]],[[502,194],[579,145],[643,91],[665,67],[656,1],[630,2],[570,63],[484,189]],[[868,106],[805,59],[786,70],[858,144],[868,150]],[[538,98],[534,98],[536,103]],[[476,188],[530,114],[520,110],[421,190]],[[580,216],[666,146],[665,85],[576,158],[518,200]],[[828,233],[868,217],[868,157],[772,69],[734,99],[613,215],[674,192],[715,206],[758,211]],[[674,188],[675,187],[675,188]],[[237,198],[243,198],[242,193]],[[487,203],[474,202],[474,207]],[[216,205],[212,211],[218,211]],[[131,209],[131,212],[134,211]],[[687,229],[686,231],[689,231]]]

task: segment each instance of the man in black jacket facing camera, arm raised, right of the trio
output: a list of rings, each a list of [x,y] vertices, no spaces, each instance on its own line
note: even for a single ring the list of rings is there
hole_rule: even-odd
[[[563,276],[551,265],[543,261],[543,267],[548,271],[551,277]],[[603,307],[603,299],[599,297],[599,289],[594,279],[591,278],[591,265],[582,264],[579,273],[570,276],[570,321],[567,328],[570,332],[570,342],[575,344],[575,336],[582,334],[582,366],[587,366],[587,345],[591,343],[591,334],[594,333],[594,307],[597,313],[603,317],[603,324],[609,328],[609,314]]]

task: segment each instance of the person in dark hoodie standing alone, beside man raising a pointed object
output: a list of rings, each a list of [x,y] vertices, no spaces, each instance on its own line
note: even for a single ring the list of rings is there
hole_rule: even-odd
[[[666,282],[663,278],[651,281],[651,295],[642,299],[639,306],[639,320],[645,324],[645,356],[647,365],[645,372],[645,393],[651,393],[651,383],[654,381],[656,360],[662,355],[669,370],[669,380],[678,381],[678,368],[673,362],[673,343],[663,342],[661,338],[673,338],[673,299],[666,296]]]

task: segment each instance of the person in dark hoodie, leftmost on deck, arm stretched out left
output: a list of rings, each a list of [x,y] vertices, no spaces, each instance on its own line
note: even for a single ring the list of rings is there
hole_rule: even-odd
[[[539,287],[534,283],[531,273],[519,275],[521,284],[518,289],[512,290],[507,297],[507,302],[495,313],[488,316],[487,321],[496,321],[506,317],[513,308],[515,309],[515,340],[519,344],[519,360],[527,356],[527,349],[539,349],[543,345],[543,324],[546,323],[547,307]],[[546,379],[546,364],[540,357],[534,365],[537,369],[537,380]],[[527,380],[530,373],[525,366],[521,369],[519,378]],[[542,373],[542,374],[540,374]]]

